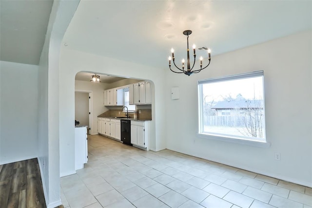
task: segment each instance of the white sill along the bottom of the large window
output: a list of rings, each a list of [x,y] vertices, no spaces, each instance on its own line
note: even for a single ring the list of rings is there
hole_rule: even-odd
[[[271,146],[271,143],[269,142],[242,139],[239,137],[227,137],[223,135],[221,136],[218,134],[210,134],[210,133],[197,133],[197,137],[223,141],[223,142],[230,142],[230,143],[235,143],[235,144],[249,145],[249,146],[254,146],[254,147],[261,147],[261,148],[269,148]]]

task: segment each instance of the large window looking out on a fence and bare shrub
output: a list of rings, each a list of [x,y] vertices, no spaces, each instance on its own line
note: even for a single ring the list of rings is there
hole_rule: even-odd
[[[266,141],[263,71],[198,81],[199,133]]]

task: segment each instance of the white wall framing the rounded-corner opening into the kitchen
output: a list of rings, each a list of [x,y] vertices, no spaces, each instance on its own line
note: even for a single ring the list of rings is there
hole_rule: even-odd
[[[158,151],[165,147],[165,105],[163,105],[163,80],[164,73],[161,69],[150,66],[130,63],[108,57],[100,57],[88,53],[78,52],[63,47],[60,55],[60,90],[59,114],[62,116],[59,122],[60,129],[60,171],[61,175],[75,171],[74,159],[67,155],[74,155],[75,127],[75,75],[79,71],[98,72],[116,76],[136,77],[138,79],[152,80],[155,84],[155,92],[152,96],[152,139],[151,150]],[[131,69],[131,70],[129,70]],[[72,77],[72,78],[70,78]],[[155,102],[158,100],[158,102]],[[155,114],[157,112],[157,115]],[[157,131],[155,130],[157,129]],[[65,154],[66,152],[66,154]]]

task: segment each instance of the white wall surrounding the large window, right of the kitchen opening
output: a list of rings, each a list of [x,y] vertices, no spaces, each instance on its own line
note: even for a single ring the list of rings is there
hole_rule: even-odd
[[[199,74],[167,71],[167,148],[312,187],[312,33],[275,39],[220,56]],[[268,149],[198,138],[197,81],[264,71]],[[171,88],[180,87],[180,99]],[[274,152],[281,160],[274,160]]]

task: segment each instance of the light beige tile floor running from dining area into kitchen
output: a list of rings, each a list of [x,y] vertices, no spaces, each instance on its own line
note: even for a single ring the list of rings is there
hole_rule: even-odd
[[[311,208],[312,189],[175,151],[88,136],[89,161],[61,178],[65,208]]]

